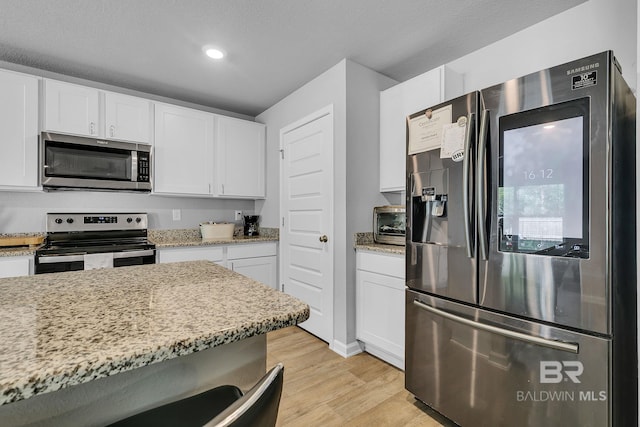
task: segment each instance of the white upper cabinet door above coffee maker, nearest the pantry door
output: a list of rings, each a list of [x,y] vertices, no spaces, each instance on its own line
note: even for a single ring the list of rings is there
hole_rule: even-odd
[[[265,197],[265,126],[217,116],[217,195],[259,199]]]

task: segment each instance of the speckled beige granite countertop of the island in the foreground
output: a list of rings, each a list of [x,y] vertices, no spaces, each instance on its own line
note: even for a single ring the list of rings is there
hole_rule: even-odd
[[[0,279],[0,404],[301,323],[309,306],[209,261]]]

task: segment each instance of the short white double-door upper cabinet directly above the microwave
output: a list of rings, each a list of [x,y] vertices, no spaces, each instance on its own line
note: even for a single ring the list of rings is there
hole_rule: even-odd
[[[151,143],[151,101],[44,80],[43,130]]]

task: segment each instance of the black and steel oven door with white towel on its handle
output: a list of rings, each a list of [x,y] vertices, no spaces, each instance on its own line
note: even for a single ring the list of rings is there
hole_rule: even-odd
[[[35,274],[62,271],[93,270],[96,268],[126,267],[155,264],[155,249],[122,251],[101,254],[42,255],[36,254]]]

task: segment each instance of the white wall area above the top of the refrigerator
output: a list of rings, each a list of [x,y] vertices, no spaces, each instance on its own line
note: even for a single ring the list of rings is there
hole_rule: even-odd
[[[470,92],[613,50],[635,89],[636,9],[636,0],[590,0],[447,65],[464,74]]]

